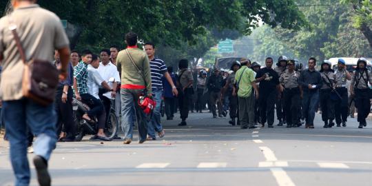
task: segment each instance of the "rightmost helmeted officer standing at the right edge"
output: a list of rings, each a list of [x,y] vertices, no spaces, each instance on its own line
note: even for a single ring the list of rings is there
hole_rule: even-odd
[[[372,85],[372,73],[366,68],[366,59],[358,59],[353,79],[351,79],[350,92],[355,99],[355,107],[358,108],[359,127],[366,126],[366,117],[371,110],[371,92],[368,83]]]

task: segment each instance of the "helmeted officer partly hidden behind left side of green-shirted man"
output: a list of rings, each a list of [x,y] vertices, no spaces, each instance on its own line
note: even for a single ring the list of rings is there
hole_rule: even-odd
[[[235,73],[240,69],[240,62],[235,61],[232,63],[230,70],[231,74],[227,77],[225,87],[223,87],[223,97],[229,97],[229,114],[231,121],[229,123],[231,125],[236,124],[236,118],[238,118],[238,95],[237,92],[233,92],[234,82],[235,82]],[[239,118],[238,118],[239,124]]]

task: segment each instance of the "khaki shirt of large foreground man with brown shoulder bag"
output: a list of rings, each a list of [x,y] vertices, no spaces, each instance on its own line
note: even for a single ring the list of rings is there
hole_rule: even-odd
[[[23,61],[19,55],[12,32],[10,18],[17,25],[27,60],[54,61],[54,50],[68,47],[68,37],[59,17],[37,4],[17,8],[0,19],[0,54],[3,55],[1,97],[3,101],[19,100],[22,94]]]

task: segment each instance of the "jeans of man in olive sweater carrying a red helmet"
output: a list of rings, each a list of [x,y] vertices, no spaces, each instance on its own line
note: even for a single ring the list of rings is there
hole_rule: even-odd
[[[143,90],[121,89],[121,127],[124,132],[124,139],[133,138],[133,122],[136,118],[138,125],[138,136],[140,141],[147,138],[146,114],[138,105],[139,96]],[[135,112],[133,110],[135,108]]]

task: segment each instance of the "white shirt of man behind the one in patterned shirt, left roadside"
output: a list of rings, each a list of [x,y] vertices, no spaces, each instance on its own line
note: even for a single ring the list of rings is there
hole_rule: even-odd
[[[101,86],[104,81],[99,71],[96,70],[92,65],[87,66],[87,87],[90,95],[94,96],[96,99],[99,99],[99,86]]]

